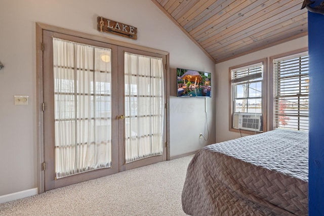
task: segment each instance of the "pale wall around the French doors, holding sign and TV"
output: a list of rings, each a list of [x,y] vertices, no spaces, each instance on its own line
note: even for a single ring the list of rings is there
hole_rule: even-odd
[[[169,52],[171,156],[215,142],[215,94],[207,101],[208,142],[198,139],[205,131],[204,99],[175,97],[176,67],[214,72],[215,64],[150,0],[0,0],[0,5],[5,65],[0,70],[0,196],[37,187],[35,22]],[[97,16],[137,27],[138,39],[98,32]],[[28,95],[29,105],[14,105],[14,95]]]

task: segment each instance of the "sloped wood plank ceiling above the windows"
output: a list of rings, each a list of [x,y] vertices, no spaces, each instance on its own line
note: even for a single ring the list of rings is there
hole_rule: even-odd
[[[151,1],[215,63],[307,35],[303,0]]]

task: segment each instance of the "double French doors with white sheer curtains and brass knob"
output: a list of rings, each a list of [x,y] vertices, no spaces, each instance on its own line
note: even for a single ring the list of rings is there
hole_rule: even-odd
[[[166,56],[43,30],[44,190],[166,160]]]

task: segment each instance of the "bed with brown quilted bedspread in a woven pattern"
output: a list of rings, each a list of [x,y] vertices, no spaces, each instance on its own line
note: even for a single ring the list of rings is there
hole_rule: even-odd
[[[190,161],[189,215],[307,215],[308,133],[275,129],[212,144]]]

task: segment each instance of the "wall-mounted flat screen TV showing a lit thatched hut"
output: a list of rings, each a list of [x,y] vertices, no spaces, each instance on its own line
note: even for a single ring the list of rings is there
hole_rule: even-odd
[[[177,96],[211,98],[211,76],[209,72],[177,68]]]

